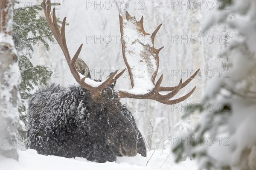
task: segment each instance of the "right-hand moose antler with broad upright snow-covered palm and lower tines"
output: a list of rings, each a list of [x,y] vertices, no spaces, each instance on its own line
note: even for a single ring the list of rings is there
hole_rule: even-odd
[[[180,79],[179,85],[175,87],[160,87],[163,74],[154,83],[159,68],[158,54],[163,49],[163,47],[159,49],[154,48],[154,37],[162,24],[152,34],[148,34],[143,28],[143,17],[141,17],[140,21],[137,21],[135,17],[131,17],[126,12],[126,19],[123,19],[122,15],[119,14],[119,22],[122,54],[128,68],[132,86],[131,90],[119,90],[120,98],[152,99],[167,105],[187,99],[195,91],[196,87],[185,96],[170,100],[198,74],[199,69],[185,82],[182,83],[182,79]],[[139,73],[141,71],[145,71],[143,77],[140,77],[141,74]],[[163,95],[159,93],[160,91],[171,92]]]

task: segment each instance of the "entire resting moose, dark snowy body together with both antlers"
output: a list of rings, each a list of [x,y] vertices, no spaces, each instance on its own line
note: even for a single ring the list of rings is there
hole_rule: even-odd
[[[180,98],[172,99],[172,97],[198,74],[199,69],[185,82],[180,79],[175,87],[161,86],[163,74],[157,81],[155,79],[159,67],[158,54],[163,47],[154,48],[154,37],[161,24],[152,34],[149,34],[143,28],[143,17],[137,21],[126,12],[125,19],[119,14],[119,22],[122,54],[128,68],[132,89],[117,90],[114,84],[125,69],[119,73],[115,71],[105,81],[91,79],[87,64],[78,58],[82,45],[74,57],[70,57],[65,37],[66,17],[60,30],[55,8],[52,14],[51,11],[50,0],[44,0],[44,12],[49,28],[63,51],[73,77],[80,86],[71,86],[67,90],[51,85],[32,96],[29,100],[28,112],[28,136],[31,146],[38,150],[43,149],[40,152],[43,154],[81,156],[98,162],[115,161],[116,156],[135,156],[137,153],[146,156],[145,143],[135,120],[119,100],[121,98],[151,99],[166,105],[182,102],[195,91],[195,88]],[[143,38],[134,39],[134,35]],[[139,77],[138,69],[144,69],[144,77]],[[44,93],[46,91],[47,94]],[[160,92],[163,91],[169,91],[169,93],[161,94]],[[40,99],[37,99],[38,97]],[[48,101],[50,98],[55,100],[54,104]],[[46,115],[53,120],[47,122]],[[51,125],[54,129],[45,129]],[[74,141],[73,138],[77,137],[79,140]],[[42,139],[48,143],[39,141]],[[60,145],[61,150],[56,150]]]

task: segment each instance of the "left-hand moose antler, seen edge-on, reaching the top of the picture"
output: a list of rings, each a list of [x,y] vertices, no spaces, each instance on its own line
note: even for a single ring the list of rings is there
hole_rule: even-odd
[[[61,50],[63,51],[63,54],[67,60],[67,64],[70,68],[70,71],[73,74],[73,77],[83,88],[91,92],[99,92],[105,87],[107,87],[108,85],[111,85],[113,82],[115,82],[116,79],[118,79],[125,72],[125,69],[124,69],[119,74],[116,75],[117,71],[115,71],[107,80],[102,82],[94,82],[89,77],[84,77],[84,76],[80,77],[79,72],[76,70],[75,64],[76,64],[76,60],[79,57],[83,44],[80,45],[79,49],[76,51],[75,56],[71,59],[70,53],[67,48],[66,36],[65,36],[66,17],[62,22],[61,31],[60,31],[58,28],[58,23],[56,19],[55,8],[53,8],[52,15],[51,15],[50,0],[44,0],[44,14],[45,14],[47,23],[49,25],[49,28],[52,31],[52,34],[54,35],[59,46],[61,47]]]

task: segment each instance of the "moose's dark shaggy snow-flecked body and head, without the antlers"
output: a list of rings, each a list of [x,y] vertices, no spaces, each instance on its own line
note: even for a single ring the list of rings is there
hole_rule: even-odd
[[[134,117],[110,87],[96,98],[81,86],[41,88],[29,100],[27,133],[29,147],[44,155],[96,162],[146,156]]]

